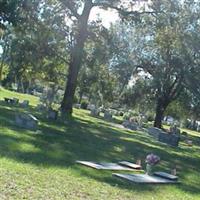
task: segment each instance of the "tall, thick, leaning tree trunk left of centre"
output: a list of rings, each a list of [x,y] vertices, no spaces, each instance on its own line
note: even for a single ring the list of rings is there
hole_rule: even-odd
[[[80,18],[78,18],[78,30],[75,35],[74,46],[71,50],[66,88],[61,103],[61,112],[63,116],[65,114],[72,114],[74,94],[77,86],[78,73],[82,64],[84,44],[87,39],[87,25],[91,8],[92,3],[86,1],[83,13],[80,15]]]

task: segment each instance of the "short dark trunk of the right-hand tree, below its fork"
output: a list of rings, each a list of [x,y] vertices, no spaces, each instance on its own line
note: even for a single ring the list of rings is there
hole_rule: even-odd
[[[162,99],[157,100],[157,106],[156,106],[156,117],[154,120],[154,127],[162,128],[162,119],[164,117],[164,112],[169,105],[168,101],[163,101]]]

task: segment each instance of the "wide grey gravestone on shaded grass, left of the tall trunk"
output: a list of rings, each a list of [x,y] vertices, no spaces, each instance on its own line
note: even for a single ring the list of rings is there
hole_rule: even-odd
[[[36,131],[38,128],[38,119],[31,114],[15,114],[15,123],[18,127]]]

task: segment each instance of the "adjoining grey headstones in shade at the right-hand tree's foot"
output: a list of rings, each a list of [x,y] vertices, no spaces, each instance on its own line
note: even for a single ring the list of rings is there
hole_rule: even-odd
[[[159,142],[166,143],[170,146],[177,147],[180,141],[180,130],[177,132],[165,132],[162,129],[151,127],[147,129],[149,135],[153,136]]]

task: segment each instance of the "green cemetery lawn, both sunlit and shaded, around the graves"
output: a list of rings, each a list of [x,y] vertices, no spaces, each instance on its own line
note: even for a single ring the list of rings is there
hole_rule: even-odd
[[[10,106],[4,97],[29,100],[24,110]],[[75,110],[65,123],[50,122],[35,106],[38,99],[0,89],[0,199],[108,199],[108,200],[199,200],[200,134],[190,135],[194,145],[172,148],[146,133],[115,127],[88,111]],[[31,112],[39,131],[14,125],[15,112]],[[188,131],[188,130],[187,130]],[[75,160],[134,162],[148,153],[161,157],[155,168],[169,172],[178,167],[179,185],[136,185],[75,164]]]

